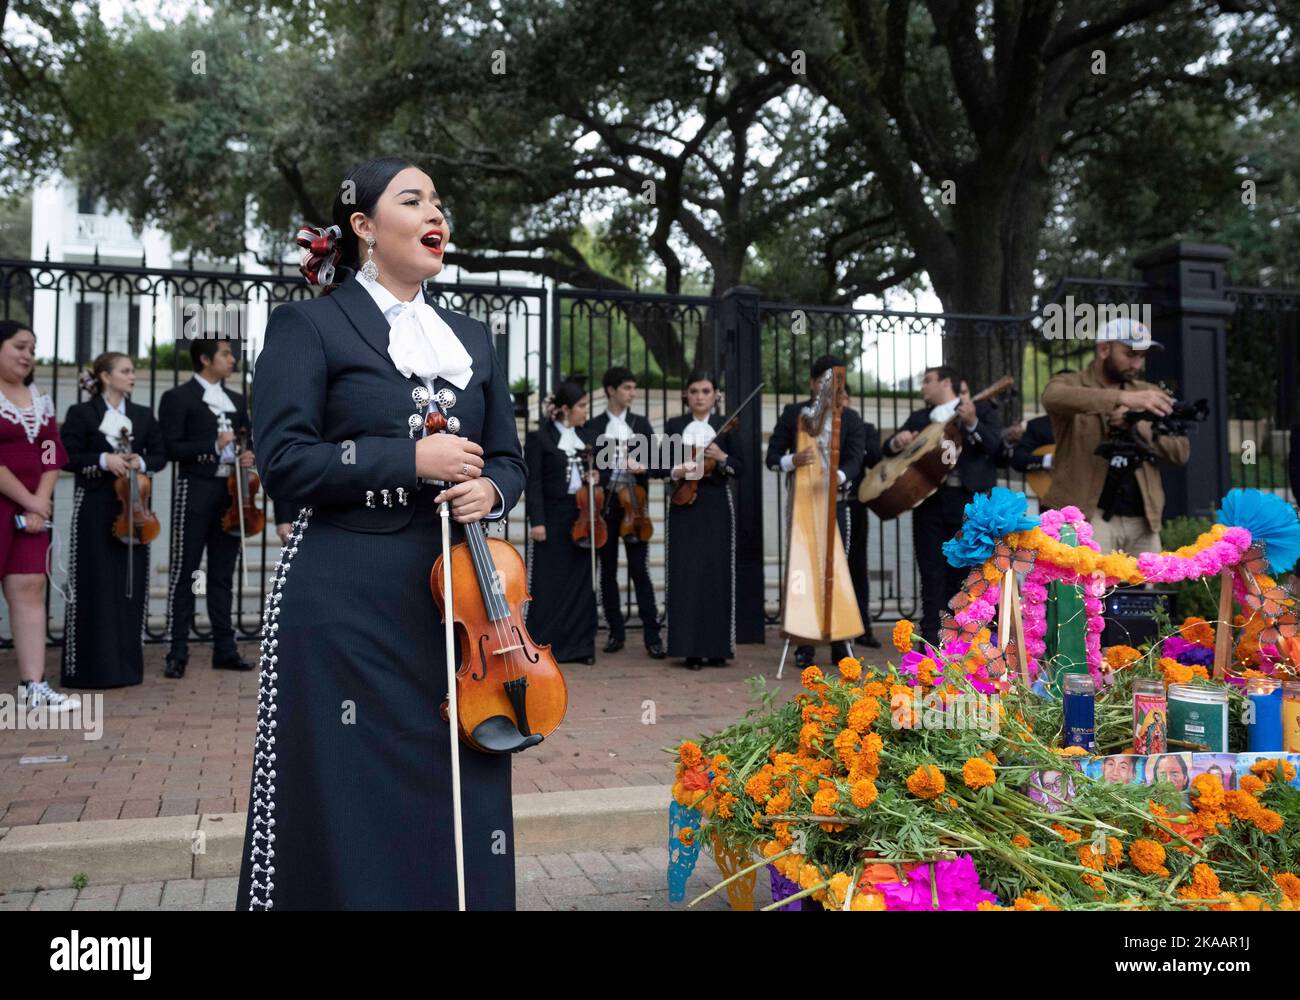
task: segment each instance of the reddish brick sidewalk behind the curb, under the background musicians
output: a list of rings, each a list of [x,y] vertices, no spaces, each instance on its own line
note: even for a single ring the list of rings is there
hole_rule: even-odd
[[[881,638],[884,628],[878,628]],[[603,638],[603,636],[601,637]],[[740,646],[729,667],[689,671],[653,661],[640,637],[593,666],[564,666],[569,710],[560,730],[515,758],[516,792],[668,784],[662,748],[729,724],[750,702],[746,679],[775,681],[781,640]],[[602,642],[598,640],[598,648]],[[162,678],[164,648],[144,651],[144,683],[101,692],[104,731],[83,740],[69,731],[0,731],[0,827],[243,811],[248,808],[257,675],[213,671],[195,645],[179,681]],[[255,645],[243,655],[256,659]],[[867,650],[868,653],[879,653]],[[47,676],[58,676],[51,649]],[[0,693],[16,691],[12,650],[0,653]],[[779,685],[798,684],[793,653]],[[62,763],[21,763],[25,756],[66,756]]]

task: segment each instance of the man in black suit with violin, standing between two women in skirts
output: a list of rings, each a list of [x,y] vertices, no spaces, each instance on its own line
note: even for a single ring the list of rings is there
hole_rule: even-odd
[[[623,622],[623,602],[619,599],[619,538],[628,555],[628,576],[637,592],[637,611],[644,625],[646,653],[651,659],[663,659],[663,642],[659,638],[659,610],[655,606],[654,584],[650,583],[650,546],[641,536],[630,531],[623,532],[624,521],[632,518],[624,508],[620,497],[624,492],[630,502],[638,505],[638,512],[649,518],[650,512],[640,505],[646,495],[650,476],[645,466],[636,459],[637,449],[632,442],[641,442],[641,453],[649,454],[654,441],[654,427],[641,414],[632,412],[637,398],[637,377],[630,368],[610,368],[601,380],[604,385],[604,412],[586,421],[584,437],[592,443],[601,469],[601,485],[604,488],[604,520],[608,527],[608,542],[601,546],[601,603],[604,607],[604,620],[610,627],[610,638],[604,644],[606,653],[618,653],[627,641]],[[629,454],[629,451],[632,454]],[[612,462],[602,462],[601,455],[608,454]]]

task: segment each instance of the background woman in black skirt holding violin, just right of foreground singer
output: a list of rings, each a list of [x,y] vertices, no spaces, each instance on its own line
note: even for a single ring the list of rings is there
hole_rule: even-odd
[[[573,542],[575,494],[586,489],[586,393],[560,382],[546,401],[545,427],[524,441],[528,462],[528,632],[559,663],[595,662],[592,553]],[[595,512],[597,520],[601,512]],[[606,542],[608,544],[608,542]]]

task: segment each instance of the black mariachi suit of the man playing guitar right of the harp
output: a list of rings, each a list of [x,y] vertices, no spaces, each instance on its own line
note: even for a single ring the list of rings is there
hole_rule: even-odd
[[[915,410],[900,430],[920,433],[930,425],[933,407]],[[939,642],[939,618],[948,599],[961,589],[967,570],[949,566],[944,542],[962,527],[966,505],[976,493],[987,493],[997,484],[994,464],[1002,450],[1002,423],[992,403],[975,403],[975,429],[961,429],[962,451],[957,456],[956,475],[961,485],[942,485],[911,512],[911,540],[920,571],[920,635],[931,644]],[[958,427],[961,427],[958,421]],[[893,455],[893,437],[885,442],[885,455]]]

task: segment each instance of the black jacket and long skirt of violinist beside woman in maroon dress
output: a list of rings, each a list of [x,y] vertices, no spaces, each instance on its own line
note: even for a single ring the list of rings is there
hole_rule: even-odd
[[[135,545],[131,597],[126,597],[130,547],[113,537],[121,508],[113,485],[117,476],[99,467],[100,453],[116,449],[99,424],[108,412],[104,397],[94,395],[68,408],[61,436],[66,469],[77,473],[73,493],[72,538],[68,555],[68,594],[64,611],[62,683],[68,688],[120,688],[144,679],[144,619],[150,597],[150,546]],[[126,402],[131,421],[131,450],[144,469],[166,466],[162,428],[147,406]]]

